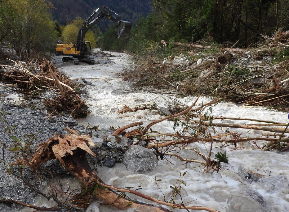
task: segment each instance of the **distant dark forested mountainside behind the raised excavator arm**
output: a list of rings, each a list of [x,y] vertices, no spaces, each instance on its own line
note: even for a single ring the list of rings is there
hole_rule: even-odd
[[[140,17],[146,17],[151,11],[149,0],[50,0],[50,2],[54,5],[52,9],[53,18],[61,25],[69,24],[78,16],[85,19],[101,5],[108,6],[133,25]],[[111,23],[108,20],[103,20],[97,26],[100,27],[101,31],[105,31],[109,24]]]

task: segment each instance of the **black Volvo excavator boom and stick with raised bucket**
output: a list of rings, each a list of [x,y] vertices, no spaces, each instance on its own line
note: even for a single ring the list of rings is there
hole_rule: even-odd
[[[118,38],[121,36],[126,36],[128,32],[131,30],[131,23],[128,21],[122,20],[121,16],[113,12],[107,6],[100,6],[95,11],[91,13],[90,16],[82,23],[78,31],[77,41],[76,41],[76,49],[80,51],[80,55],[84,55],[85,50],[85,41],[84,36],[89,29],[91,29],[100,19],[103,17],[107,17],[116,23]]]

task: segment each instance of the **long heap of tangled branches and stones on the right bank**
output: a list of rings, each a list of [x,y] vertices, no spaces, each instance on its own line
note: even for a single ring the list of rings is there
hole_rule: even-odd
[[[235,103],[287,111],[288,40],[289,33],[280,33],[273,38],[267,37],[265,45],[243,51],[183,44],[190,50],[164,61],[149,56],[125,73],[124,79],[136,89],[149,87],[151,91],[164,89],[185,96],[210,95]],[[204,49],[200,49],[202,47]]]

